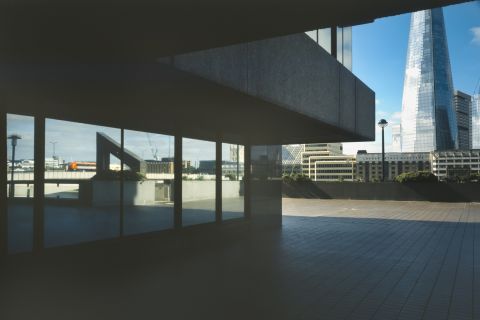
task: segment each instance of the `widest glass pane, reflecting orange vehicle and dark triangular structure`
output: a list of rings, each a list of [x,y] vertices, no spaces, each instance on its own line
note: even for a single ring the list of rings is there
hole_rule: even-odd
[[[119,129],[46,119],[46,247],[119,235],[119,155]]]

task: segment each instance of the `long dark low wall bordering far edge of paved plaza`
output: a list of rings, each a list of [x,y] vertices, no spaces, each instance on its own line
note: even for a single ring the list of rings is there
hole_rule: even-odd
[[[480,183],[349,183],[283,184],[291,198],[480,202]]]

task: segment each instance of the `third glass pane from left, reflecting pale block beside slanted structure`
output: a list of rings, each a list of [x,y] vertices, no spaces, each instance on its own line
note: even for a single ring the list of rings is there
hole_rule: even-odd
[[[124,234],[173,228],[174,137],[124,134]]]

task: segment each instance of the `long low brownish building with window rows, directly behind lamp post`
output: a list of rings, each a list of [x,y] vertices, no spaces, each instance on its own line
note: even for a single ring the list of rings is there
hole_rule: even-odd
[[[356,179],[374,182],[382,179],[382,154],[359,151],[356,157]],[[385,181],[392,181],[404,172],[430,171],[428,152],[385,153]]]

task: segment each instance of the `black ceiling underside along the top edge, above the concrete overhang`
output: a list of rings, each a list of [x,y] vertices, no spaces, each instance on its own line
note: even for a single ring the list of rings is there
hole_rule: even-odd
[[[0,0],[0,62],[152,62],[463,0]]]

